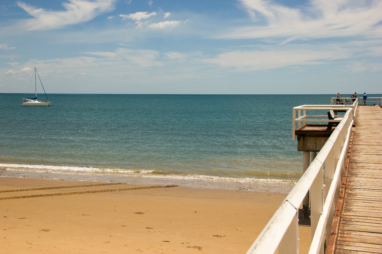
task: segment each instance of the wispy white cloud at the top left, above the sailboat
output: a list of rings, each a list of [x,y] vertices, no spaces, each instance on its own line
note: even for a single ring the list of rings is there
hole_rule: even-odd
[[[96,16],[114,10],[116,0],[68,0],[62,5],[66,11],[44,10],[17,2],[33,19],[26,19],[21,25],[26,30],[57,29],[70,24],[89,21]]]

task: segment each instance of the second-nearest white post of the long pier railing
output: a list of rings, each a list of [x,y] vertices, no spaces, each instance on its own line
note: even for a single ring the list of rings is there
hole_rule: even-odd
[[[316,232],[317,224],[320,219],[320,216],[322,215],[322,209],[323,209],[323,167],[320,167],[320,170],[314,178],[314,181],[311,185],[311,232],[312,232],[312,239],[314,236],[314,233]],[[322,246],[320,248],[320,251],[317,252],[319,254],[324,254],[324,241],[322,241]]]

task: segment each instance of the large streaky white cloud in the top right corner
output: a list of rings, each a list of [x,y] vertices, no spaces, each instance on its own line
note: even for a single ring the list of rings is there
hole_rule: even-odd
[[[240,2],[258,25],[237,27],[220,38],[281,37],[286,38],[286,43],[295,39],[382,35],[380,0],[311,0],[306,9],[288,8],[268,0]]]

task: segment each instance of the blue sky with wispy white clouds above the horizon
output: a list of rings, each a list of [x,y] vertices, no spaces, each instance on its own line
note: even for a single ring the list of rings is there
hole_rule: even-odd
[[[382,1],[2,0],[0,92],[34,67],[47,93],[382,93]]]

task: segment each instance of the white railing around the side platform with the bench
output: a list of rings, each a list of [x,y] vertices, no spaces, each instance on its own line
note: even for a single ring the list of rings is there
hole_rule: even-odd
[[[322,117],[322,118],[328,118],[327,114],[325,115],[307,115],[307,110],[347,110],[349,108],[353,109],[352,118],[353,121],[355,121],[356,112],[358,108],[357,101],[354,101],[353,104],[350,105],[302,105],[293,108],[293,119],[292,119],[292,140],[295,140],[295,130],[301,127],[302,125],[306,124],[306,122],[338,122],[338,120],[329,120],[329,119],[311,119],[310,117]],[[297,113],[297,117],[296,117]],[[297,125],[296,125],[297,122]]]

